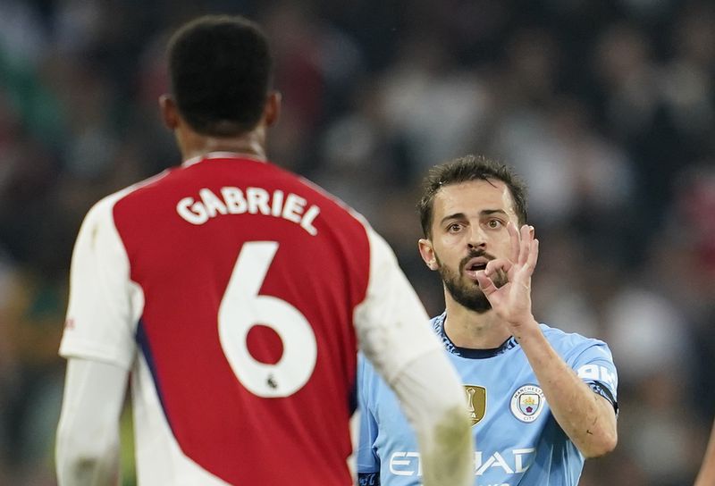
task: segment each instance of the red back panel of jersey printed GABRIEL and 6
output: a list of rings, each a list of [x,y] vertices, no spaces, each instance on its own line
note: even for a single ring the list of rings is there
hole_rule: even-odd
[[[183,453],[231,484],[349,484],[363,224],[290,172],[231,157],[130,192],[114,223]]]

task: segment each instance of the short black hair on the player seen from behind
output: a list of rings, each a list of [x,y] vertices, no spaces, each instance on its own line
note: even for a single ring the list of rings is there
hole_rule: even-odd
[[[193,130],[231,137],[256,127],[273,77],[268,40],[256,23],[199,17],[173,34],[168,58],[172,95]]]

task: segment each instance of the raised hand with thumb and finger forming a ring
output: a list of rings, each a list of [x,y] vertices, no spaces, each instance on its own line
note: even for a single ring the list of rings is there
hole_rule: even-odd
[[[490,261],[483,272],[477,273],[476,280],[492,304],[492,309],[518,337],[517,331],[521,326],[535,323],[531,312],[531,276],[539,256],[539,240],[534,239],[534,228],[526,224],[518,231],[509,222],[507,230],[511,241],[509,259],[496,258]],[[500,288],[492,281],[497,272],[503,272],[507,277],[507,283]]]

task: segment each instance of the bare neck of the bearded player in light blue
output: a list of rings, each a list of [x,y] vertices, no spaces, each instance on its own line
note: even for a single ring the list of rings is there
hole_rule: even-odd
[[[499,348],[511,336],[506,324],[494,311],[480,314],[469,310],[452,299],[449,293],[446,293],[445,301],[447,319],[444,332],[458,348]]]

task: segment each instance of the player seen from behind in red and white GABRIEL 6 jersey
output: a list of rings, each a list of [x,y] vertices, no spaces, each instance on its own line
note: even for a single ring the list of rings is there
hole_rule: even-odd
[[[189,22],[169,69],[181,166],[97,203],[72,256],[59,484],[118,483],[131,376],[140,485],[348,485],[358,347],[416,427],[425,484],[468,484],[463,392],[391,249],[266,160],[261,29]]]

